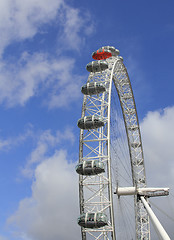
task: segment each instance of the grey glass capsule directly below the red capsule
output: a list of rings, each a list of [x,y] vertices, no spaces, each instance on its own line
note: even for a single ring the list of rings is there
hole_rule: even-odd
[[[86,70],[88,72],[102,72],[108,68],[108,63],[106,61],[92,61],[86,65]]]

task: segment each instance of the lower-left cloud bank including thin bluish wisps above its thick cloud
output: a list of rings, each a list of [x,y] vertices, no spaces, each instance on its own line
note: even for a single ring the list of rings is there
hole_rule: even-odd
[[[33,133],[34,135],[34,133]],[[38,134],[37,134],[38,135]],[[22,174],[32,177],[32,195],[22,199],[8,219],[17,239],[77,239],[78,176],[75,163],[60,144],[74,143],[71,129],[55,134],[43,131]],[[79,237],[80,238],[80,237]]]

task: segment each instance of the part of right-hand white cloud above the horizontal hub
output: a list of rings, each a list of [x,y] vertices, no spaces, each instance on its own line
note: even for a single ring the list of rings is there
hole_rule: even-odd
[[[149,178],[155,184],[174,183],[173,122],[174,107],[170,107],[149,112],[141,124]]]

